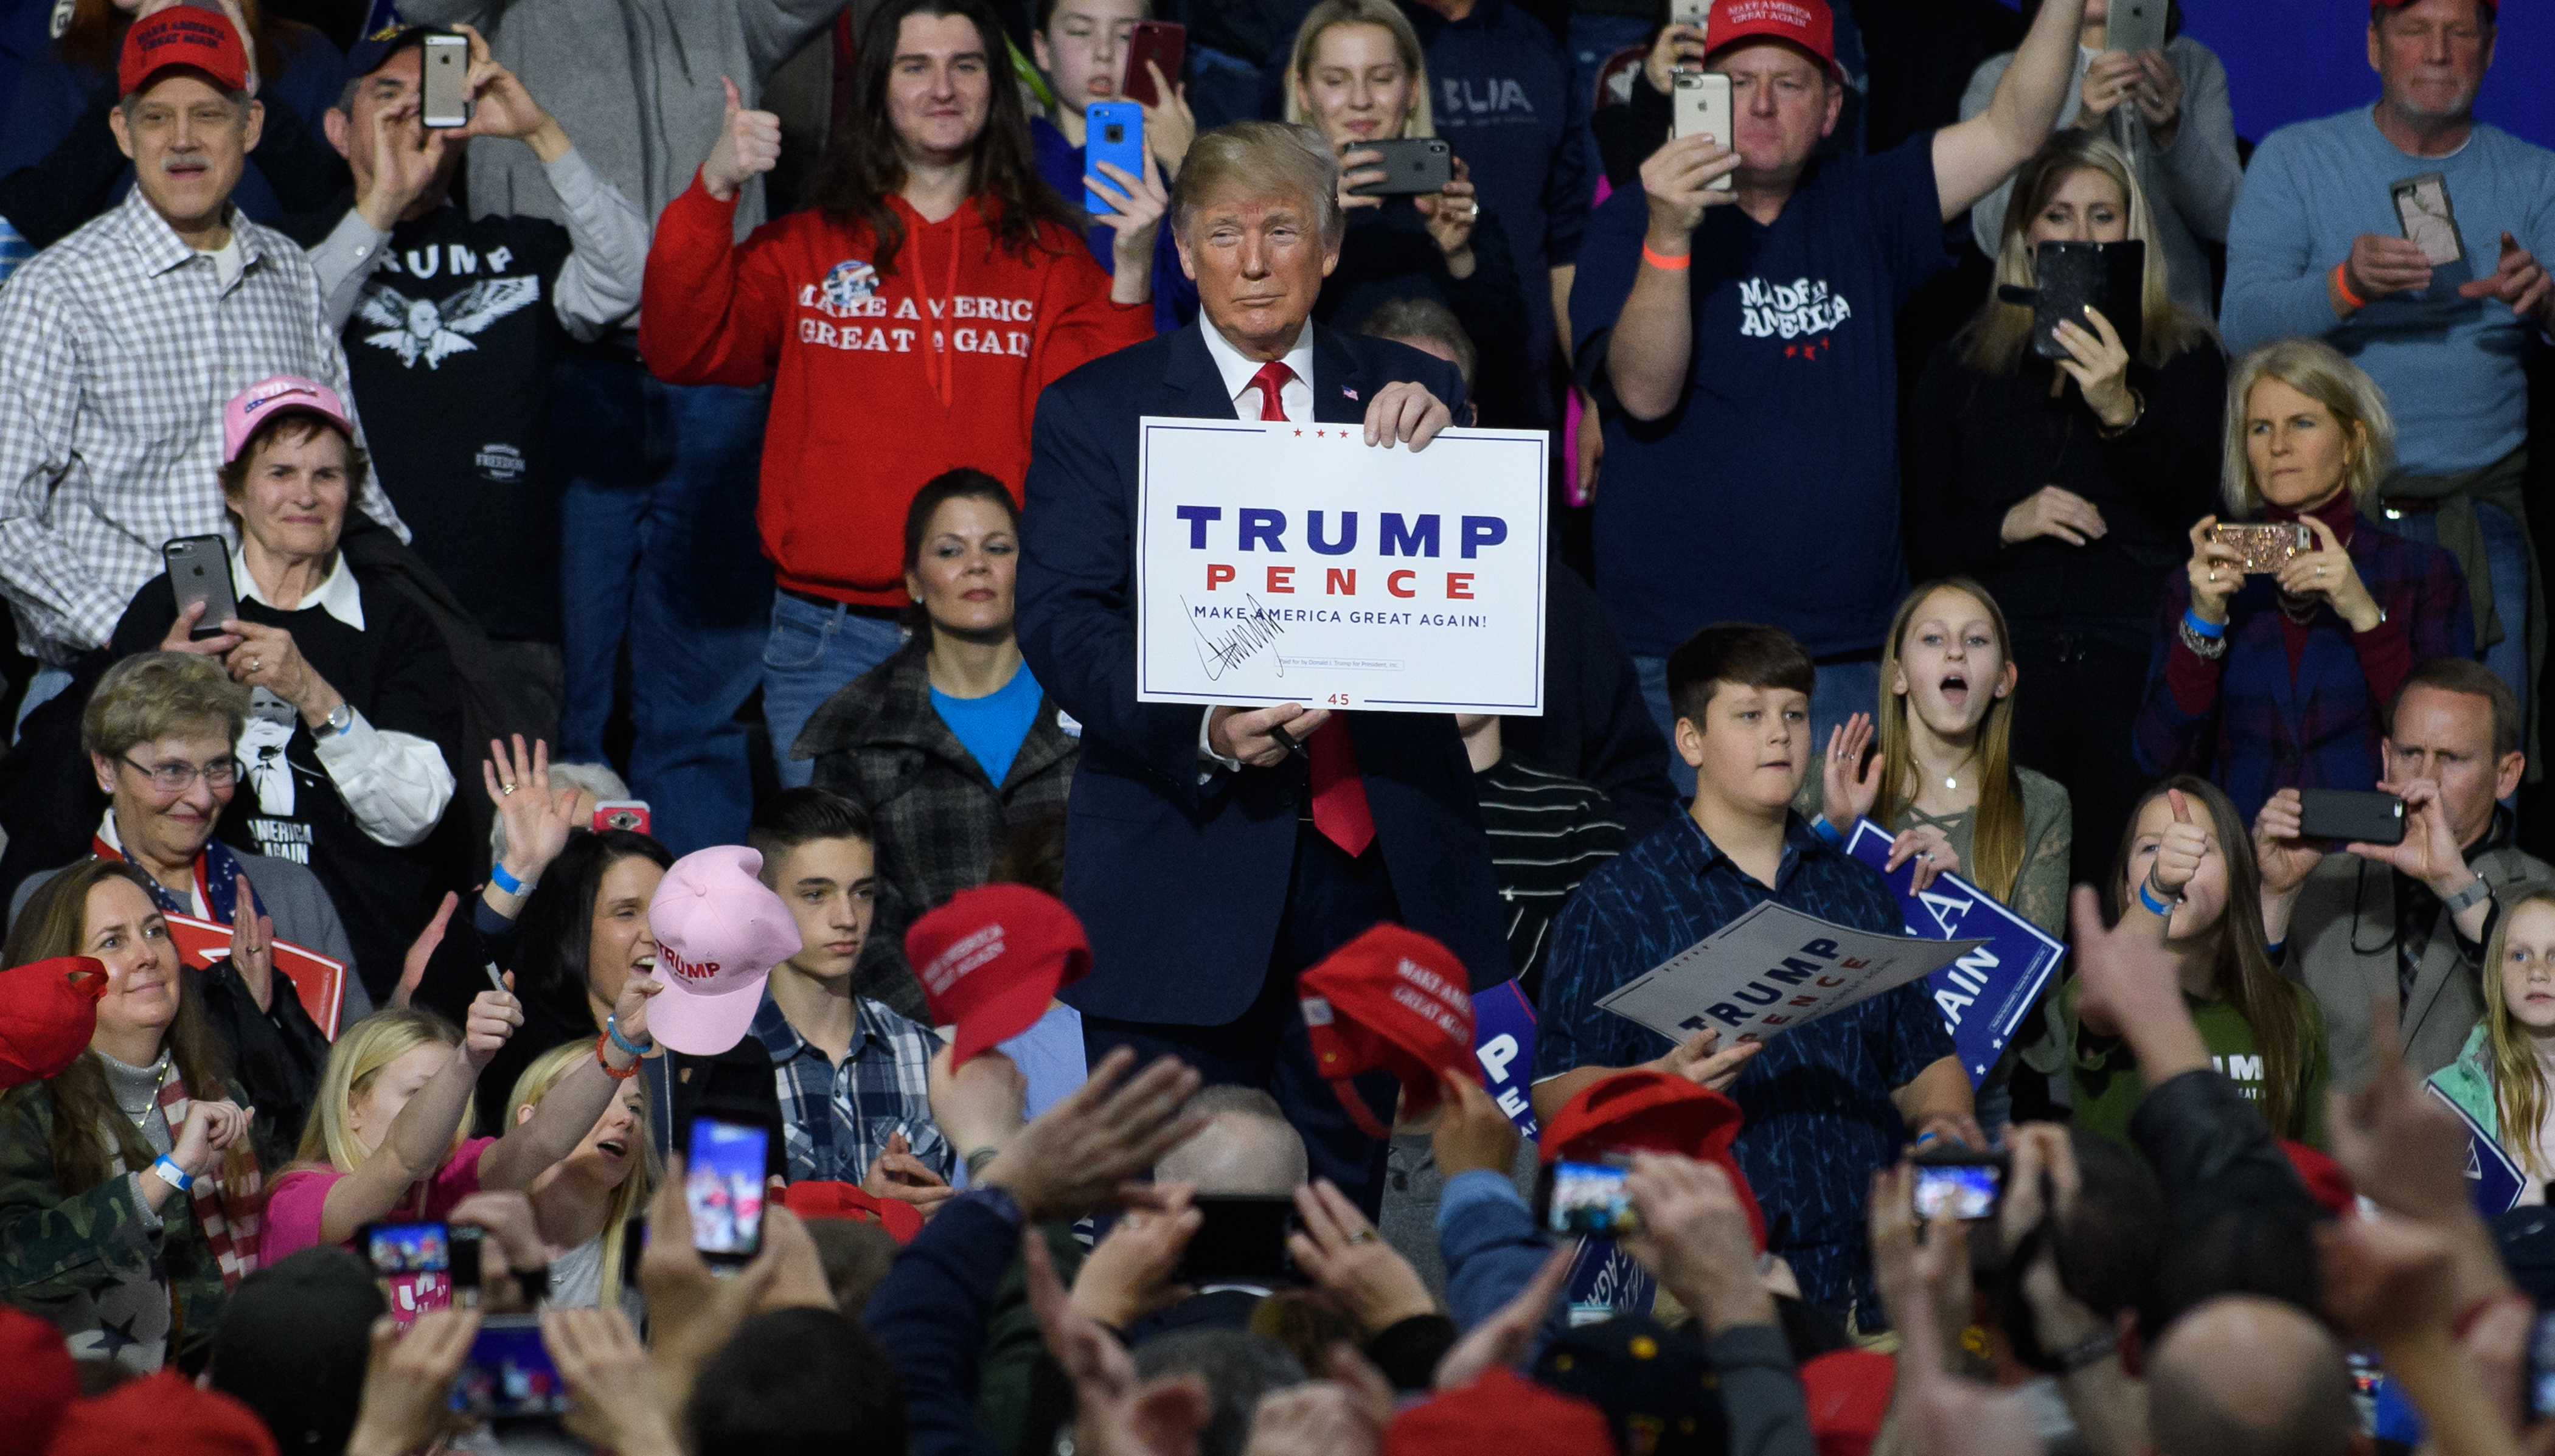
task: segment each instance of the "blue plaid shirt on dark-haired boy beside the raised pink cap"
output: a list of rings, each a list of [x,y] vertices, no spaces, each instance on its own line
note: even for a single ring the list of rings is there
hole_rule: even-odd
[[[764,991],[754,1035],[779,1083],[789,1183],[861,1183],[892,1132],[940,1178],[956,1172],[958,1157],[933,1126],[927,1073],[940,1037],[930,1027],[864,996],[851,1004],[851,1055],[835,1065]]]

